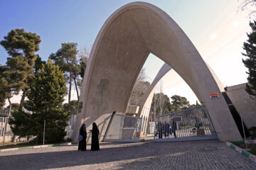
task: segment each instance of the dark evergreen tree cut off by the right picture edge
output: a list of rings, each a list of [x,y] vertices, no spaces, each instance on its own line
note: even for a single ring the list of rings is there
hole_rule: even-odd
[[[242,62],[248,69],[246,73],[249,74],[245,91],[256,98],[256,21],[250,22],[250,27],[252,28],[252,33],[247,33],[248,40],[243,45],[246,53],[242,53],[247,58]]]

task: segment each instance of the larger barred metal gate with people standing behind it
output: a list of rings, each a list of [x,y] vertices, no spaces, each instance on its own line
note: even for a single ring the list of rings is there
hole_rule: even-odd
[[[154,141],[218,139],[204,106],[156,116]]]

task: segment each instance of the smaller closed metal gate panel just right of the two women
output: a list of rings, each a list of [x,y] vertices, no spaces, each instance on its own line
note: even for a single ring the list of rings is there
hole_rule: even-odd
[[[104,141],[139,142],[142,132],[142,118],[114,114]]]

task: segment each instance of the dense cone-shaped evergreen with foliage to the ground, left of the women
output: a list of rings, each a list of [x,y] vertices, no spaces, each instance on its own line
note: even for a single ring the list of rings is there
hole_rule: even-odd
[[[63,107],[67,92],[63,72],[48,60],[43,69],[35,74],[35,81],[30,89],[24,108],[32,114],[23,111],[13,113],[11,130],[19,136],[36,136],[36,141],[41,142],[43,122],[46,120],[46,142],[61,142],[68,125],[68,113]]]

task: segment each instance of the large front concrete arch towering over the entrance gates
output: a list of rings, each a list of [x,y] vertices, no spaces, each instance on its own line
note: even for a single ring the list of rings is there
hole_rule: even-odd
[[[164,11],[144,2],[122,6],[107,19],[92,47],[82,84],[81,123],[102,136],[112,111],[124,112],[149,52],[169,64],[205,104],[222,141],[241,140],[220,89],[196,47]],[[212,101],[210,92],[220,98]]]

